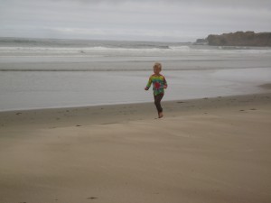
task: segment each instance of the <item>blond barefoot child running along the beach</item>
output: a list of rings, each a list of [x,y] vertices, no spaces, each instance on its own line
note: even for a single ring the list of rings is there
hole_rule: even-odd
[[[162,70],[161,63],[154,64],[154,75],[149,78],[149,81],[145,87],[145,90],[148,90],[153,83],[154,90],[154,104],[157,108],[158,117],[162,118],[163,108],[161,106],[161,100],[164,97],[164,88],[167,88],[167,83],[163,75],[160,74]]]

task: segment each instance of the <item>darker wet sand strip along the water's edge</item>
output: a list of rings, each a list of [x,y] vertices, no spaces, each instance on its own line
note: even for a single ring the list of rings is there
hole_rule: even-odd
[[[268,86],[269,88],[269,86]],[[203,97],[162,101],[165,117],[198,114],[205,110],[219,110],[230,107],[253,106],[268,103],[271,93]],[[205,113],[205,112],[204,112]],[[61,108],[43,108],[0,112],[0,127],[12,125],[69,126],[98,125],[124,121],[156,118],[153,102],[117,104],[102,106],[79,106]]]

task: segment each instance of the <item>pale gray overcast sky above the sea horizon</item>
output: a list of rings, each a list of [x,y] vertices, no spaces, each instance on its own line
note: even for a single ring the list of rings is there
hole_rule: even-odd
[[[0,0],[0,37],[194,42],[271,32],[270,0]]]

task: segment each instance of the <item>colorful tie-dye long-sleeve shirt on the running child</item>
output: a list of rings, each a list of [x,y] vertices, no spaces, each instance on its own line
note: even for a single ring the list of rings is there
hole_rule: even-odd
[[[164,88],[167,87],[166,80],[163,75],[152,75],[149,78],[149,81],[146,85],[146,88],[149,89],[153,84],[154,96],[159,94],[164,94]]]

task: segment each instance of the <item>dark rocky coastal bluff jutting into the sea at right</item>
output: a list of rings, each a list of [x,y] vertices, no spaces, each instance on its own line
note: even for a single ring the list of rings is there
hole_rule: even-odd
[[[230,32],[210,34],[206,38],[211,46],[270,46],[271,32]]]

